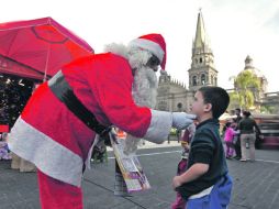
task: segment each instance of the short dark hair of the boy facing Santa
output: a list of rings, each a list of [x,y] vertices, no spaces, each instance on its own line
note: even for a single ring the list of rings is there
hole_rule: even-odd
[[[204,103],[211,103],[213,118],[219,119],[230,103],[228,94],[221,87],[201,87],[199,91],[203,96]]]

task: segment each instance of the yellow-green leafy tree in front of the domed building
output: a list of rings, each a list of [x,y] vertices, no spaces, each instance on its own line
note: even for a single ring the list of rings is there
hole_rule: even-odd
[[[244,70],[234,80],[235,91],[230,94],[232,103],[238,103],[242,109],[252,109],[255,102],[255,91],[260,89],[259,78],[249,70]]]

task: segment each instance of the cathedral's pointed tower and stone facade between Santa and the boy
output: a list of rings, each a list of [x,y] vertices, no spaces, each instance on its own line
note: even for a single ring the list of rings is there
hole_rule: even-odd
[[[217,86],[217,70],[214,55],[205,32],[201,11],[198,14],[196,36],[192,43],[192,58],[189,73],[189,87],[169,75],[161,74],[158,82],[157,110],[189,111],[194,92],[202,86]]]

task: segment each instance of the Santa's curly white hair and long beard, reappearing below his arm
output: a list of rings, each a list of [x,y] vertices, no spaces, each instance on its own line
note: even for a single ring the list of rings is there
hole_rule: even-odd
[[[138,48],[129,48],[124,45],[111,44],[105,48],[107,52],[121,55],[127,58],[131,67],[135,68],[134,82],[132,88],[132,96],[134,101],[140,107],[155,108],[158,80],[156,73],[146,66],[146,63],[152,57],[147,51]],[[135,138],[127,133],[124,143],[124,153],[134,154],[137,150],[141,138]]]

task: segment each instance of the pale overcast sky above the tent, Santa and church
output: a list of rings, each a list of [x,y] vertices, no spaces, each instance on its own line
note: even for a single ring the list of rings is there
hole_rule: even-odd
[[[101,53],[105,44],[127,44],[143,34],[161,33],[168,74],[189,85],[192,41],[199,9],[211,41],[219,86],[244,69],[247,55],[279,91],[279,0],[9,0],[0,22],[52,16]]]

